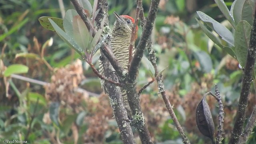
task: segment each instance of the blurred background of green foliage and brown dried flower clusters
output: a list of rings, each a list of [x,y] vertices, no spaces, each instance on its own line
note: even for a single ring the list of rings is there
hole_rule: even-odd
[[[65,11],[74,9],[69,0],[62,2]],[[150,2],[143,0],[145,16]],[[230,8],[233,1],[225,2]],[[136,13],[134,0],[109,0],[108,6],[110,28],[115,21],[114,11],[132,17]],[[217,84],[224,103],[225,144],[233,127],[242,70],[236,59],[202,32],[195,20],[198,10],[232,30],[214,0],[161,0],[151,40],[158,58],[158,69],[168,66],[163,73],[165,88],[192,144],[210,144],[196,127],[195,111],[203,94],[214,92],[214,84]],[[41,16],[62,18],[59,2],[0,1],[0,139],[27,140],[31,144],[121,144],[108,96],[100,88],[100,79],[55,32],[40,25],[38,18]],[[141,32],[139,27],[138,39]],[[144,55],[148,55],[147,51]],[[99,53],[96,53],[93,59],[96,66],[98,57]],[[28,72],[21,76],[50,85],[4,76],[6,68],[13,64],[28,67]],[[143,58],[138,89],[152,79],[152,74],[152,67]],[[80,89],[73,90],[77,87]],[[140,100],[152,140],[157,144],[181,144],[182,139],[157,92],[153,83],[144,90]],[[255,102],[253,91],[247,117]],[[216,126],[217,103],[213,98],[209,98],[208,103]],[[135,130],[134,135],[139,143]],[[248,143],[254,142],[256,136],[252,134]]]

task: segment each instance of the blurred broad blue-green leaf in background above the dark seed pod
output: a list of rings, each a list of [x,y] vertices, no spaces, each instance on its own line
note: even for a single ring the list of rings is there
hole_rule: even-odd
[[[196,51],[193,52],[195,58],[198,60],[198,62],[200,63],[200,67],[202,68],[203,72],[211,72],[212,70],[212,59],[209,56],[209,54],[207,54],[204,51]]]

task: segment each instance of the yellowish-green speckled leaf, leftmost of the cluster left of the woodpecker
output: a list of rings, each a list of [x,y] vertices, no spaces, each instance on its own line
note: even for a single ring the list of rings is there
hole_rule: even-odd
[[[63,28],[63,19],[62,18],[54,18],[54,17],[50,17],[50,16],[42,16],[40,18],[38,18],[40,24],[46,28],[47,30],[52,30],[54,31],[54,28],[52,26],[52,24],[49,21],[49,18],[54,21],[57,26],[59,26],[62,30],[64,30]]]

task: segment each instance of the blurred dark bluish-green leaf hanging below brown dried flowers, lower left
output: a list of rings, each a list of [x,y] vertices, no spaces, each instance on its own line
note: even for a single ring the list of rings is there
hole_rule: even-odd
[[[59,102],[52,102],[50,104],[50,119],[52,120],[52,122],[54,122],[57,126],[59,126],[59,107],[60,107],[60,103]]]

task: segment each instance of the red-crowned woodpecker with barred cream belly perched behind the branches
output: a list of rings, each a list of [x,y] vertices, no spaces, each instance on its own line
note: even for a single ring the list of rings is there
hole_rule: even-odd
[[[128,15],[119,16],[116,12],[114,12],[116,17],[116,21],[114,23],[113,29],[110,32],[110,42],[112,51],[116,60],[121,64],[121,66],[128,72],[128,62],[129,62],[129,46],[130,40],[132,36],[132,27],[134,25],[134,19]],[[136,30],[138,31],[138,26],[136,26]],[[136,37],[137,38],[137,34]],[[134,45],[134,44],[133,44]],[[134,54],[134,48],[132,55]],[[101,60],[99,59],[99,72],[104,75],[103,66]],[[104,80],[100,81],[101,87],[105,93],[107,93]],[[124,107],[126,108],[128,117],[131,116],[130,106],[127,100],[127,94],[124,89],[121,88],[122,98],[124,101]]]

